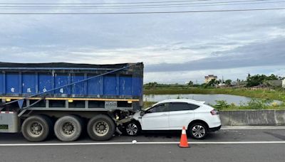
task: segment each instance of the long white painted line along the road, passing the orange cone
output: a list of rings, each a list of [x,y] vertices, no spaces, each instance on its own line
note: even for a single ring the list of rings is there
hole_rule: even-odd
[[[285,144],[285,141],[203,141],[188,142],[189,144]],[[179,142],[137,142],[136,144],[179,144]],[[135,145],[132,142],[102,142],[102,143],[53,143],[53,144],[0,144],[0,146],[88,146],[88,145]]]

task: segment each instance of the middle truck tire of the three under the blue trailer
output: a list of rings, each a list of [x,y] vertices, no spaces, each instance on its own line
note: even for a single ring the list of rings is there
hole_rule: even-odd
[[[54,133],[61,141],[76,141],[82,132],[82,120],[74,115],[59,118],[54,124]]]

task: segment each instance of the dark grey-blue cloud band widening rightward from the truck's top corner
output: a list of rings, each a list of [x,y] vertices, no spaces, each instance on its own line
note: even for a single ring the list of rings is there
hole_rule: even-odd
[[[211,70],[253,66],[284,65],[285,38],[263,43],[251,43],[232,50],[216,52],[217,56],[186,63],[149,65],[147,72]]]

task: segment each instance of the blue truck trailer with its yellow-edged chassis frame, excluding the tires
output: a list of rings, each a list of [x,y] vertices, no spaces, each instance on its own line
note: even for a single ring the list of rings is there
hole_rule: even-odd
[[[24,119],[38,114],[56,119],[76,114],[92,119],[98,112],[104,114],[112,111],[117,114],[113,113],[114,117],[111,117],[109,113],[108,117],[114,120],[120,118],[118,114],[122,114],[118,110],[142,107],[142,63],[0,63],[0,70],[1,112],[13,112],[10,115]],[[1,127],[0,132],[18,131],[17,126],[10,126],[13,129]],[[26,139],[37,141],[31,136],[27,137],[27,134],[24,134]]]

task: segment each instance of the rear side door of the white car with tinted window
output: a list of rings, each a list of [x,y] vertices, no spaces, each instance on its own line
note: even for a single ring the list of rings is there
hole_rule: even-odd
[[[182,129],[182,126],[187,126],[194,119],[194,109],[199,106],[196,104],[189,104],[187,102],[171,102],[170,105],[170,129]]]

